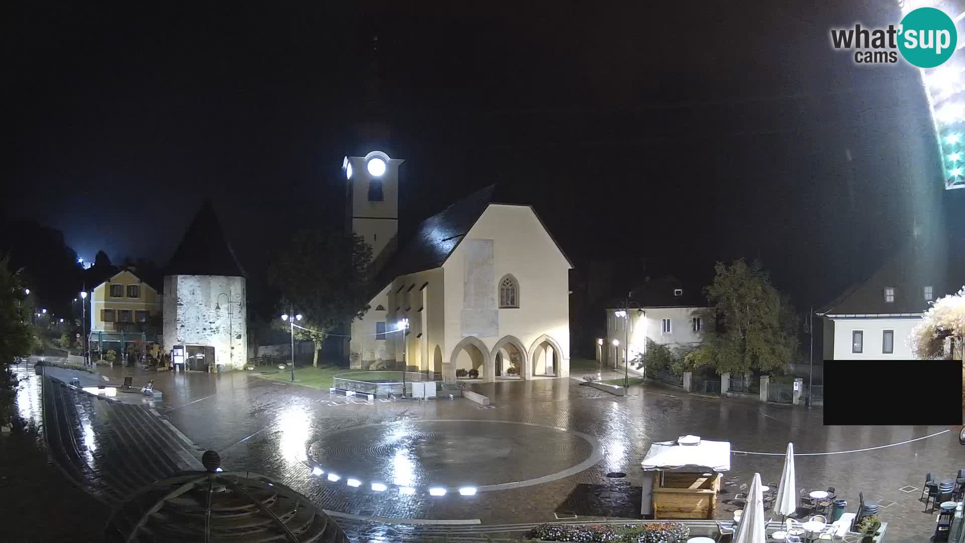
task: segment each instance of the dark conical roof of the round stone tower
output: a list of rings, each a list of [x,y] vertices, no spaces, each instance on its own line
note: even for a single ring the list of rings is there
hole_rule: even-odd
[[[210,200],[202,204],[187,227],[164,274],[245,276]]]

